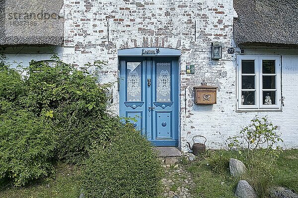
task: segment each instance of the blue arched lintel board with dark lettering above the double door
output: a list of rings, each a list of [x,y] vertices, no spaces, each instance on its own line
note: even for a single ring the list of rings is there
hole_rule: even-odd
[[[159,49],[159,53],[155,54],[143,54],[142,50],[151,50],[155,51]],[[130,49],[119,49],[118,56],[180,56],[181,50],[180,49],[170,49],[170,48],[130,48]]]

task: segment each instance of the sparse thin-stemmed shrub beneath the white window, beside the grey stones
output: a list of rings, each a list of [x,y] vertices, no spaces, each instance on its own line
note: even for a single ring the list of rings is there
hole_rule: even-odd
[[[274,180],[273,164],[280,154],[279,142],[283,142],[274,126],[266,117],[255,117],[252,124],[244,127],[238,136],[230,137],[228,147],[235,148],[248,169],[247,180],[260,198],[268,197],[268,188]]]

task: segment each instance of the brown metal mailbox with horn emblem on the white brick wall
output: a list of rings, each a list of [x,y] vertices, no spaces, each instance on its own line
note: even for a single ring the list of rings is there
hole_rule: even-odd
[[[217,87],[202,85],[194,87],[195,104],[216,104]]]

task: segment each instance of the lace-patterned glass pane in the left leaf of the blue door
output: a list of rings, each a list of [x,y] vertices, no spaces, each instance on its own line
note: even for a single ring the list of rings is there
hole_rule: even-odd
[[[127,63],[127,101],[142,100],[142,63]]]

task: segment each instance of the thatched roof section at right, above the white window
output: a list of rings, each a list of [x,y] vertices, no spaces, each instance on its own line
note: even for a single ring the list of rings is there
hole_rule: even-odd
[[[298,0],[234,0],[237,44],[298,45]]]

